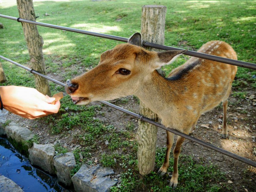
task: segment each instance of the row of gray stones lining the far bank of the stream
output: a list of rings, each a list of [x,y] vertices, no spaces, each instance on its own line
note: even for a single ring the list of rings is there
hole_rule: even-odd
[[[77,192],[107,192],[110,187],[117,184],[117,181],[109,178],[114,171],[110,167],[102,167],[99,164],[91,168],[84,164],[71,178],[71,171],[76,165],[72,152],[55,155],[53,144],[33,143],[31,147],[34,138],[33,132],[14,122],[7,124],[7,115],[8,111],[5,109],[0,111],[0,136],[7,136],[18,151],[29,157],[32,165],[39,166],[52,175],[57,175],[58,181],[63,185],[69,187],[73,184]]]

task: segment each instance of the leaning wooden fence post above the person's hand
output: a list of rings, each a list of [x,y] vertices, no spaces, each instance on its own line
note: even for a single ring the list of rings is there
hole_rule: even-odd
[[[36,21],[34,5],[32,0],[17,0],[17,8],[20,18]],[[42,74],[46,74],[44,55],[43,55],[43,38],[39,35],[37,26],[29,23],[22,23],[22,28],[27,42],[27,48],[30,56],[32,69]],[[48,80],[34,75],[36,89],[44,95],[51,96]]]

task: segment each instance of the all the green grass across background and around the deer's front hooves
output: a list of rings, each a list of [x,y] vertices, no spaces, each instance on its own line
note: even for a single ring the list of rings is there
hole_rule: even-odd
[[[0,14],[19,17],[15,1],[1,2]],[[232,45],[239,60],[256,63],[255,1],[36,1],[34,9],[39,22],[130,37],[140,31],[141,6],[147,4],[167,7],[165,45],[195,51],[209,40],[223,40]],[[49,16],[45,16],[45,12]],[[21,24],[3,18],[0,18],[0,22],[4,25],[4,29],[0,29],[0,55],[29,67],[29,55]],[[97,65],[103,51],[120,43],[42,26],[37,26],[37,29],[44,39],[47,73],[57,76],[62,82]],[[168,74],[188,58],[182,56],[163,70]],[[1,85],[34,87],[31,73],[6,61],[1,63],[8,79],[8,82]],[[243,99],[247,94],[244,88],[256,88],[256,78],[252,78],[255,74],[256,71],[238,68],[233,82],[234,96]],[[52,93],[64,91],[52,82],[50,88]],[[139,103],[136,97],[134,99]],[[128,102],[126,98],[120,101],[122,104]],[[95,118],[101,107],[73,105],[69,96],[64,96],[59,113],[41,118],[48,125],[50,133],[63,137],[73,136],[74,142],[81,146],[73,150],[76,167],[72,174],[84,163],[93,166],[95,161],[99,161],[103,166],[122,170],[119,184],[112,187],[112,191],[171,191],[167,181],[169,178],[161,178],[156,174],[157,168],[162,164],[165,149],[159,148],[157,151],[154,172],[140,176],[137,171],[137,143],[133,141],[135,125],[127,122],[124,125],[127,131],[120,131],[111,124],[101,122]],[[74,133],[74,130],[79,132]],[[58,153],[66,152],[66,148],[61,145],[55,145],[55,150]],[[170,167],[172,164],[170,158]],[[168,171],[171,170],[169,168]],[[179,173],[176,191],[232,191],[228,186],[219,184],[226,179],[217,167],[195,162],[190,156],[181,155]]]

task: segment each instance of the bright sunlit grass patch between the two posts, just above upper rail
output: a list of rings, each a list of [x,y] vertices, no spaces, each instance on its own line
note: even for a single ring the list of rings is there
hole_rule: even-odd
[[[100,24],[100,26],[95,26],[94,23],[79,23],[79,24],[74,24],[71,27],[83,28],[85,30],[93,31],[96,33],[108,33],[110,31],[121,31],[119,26],[105,26],[102,24]]]

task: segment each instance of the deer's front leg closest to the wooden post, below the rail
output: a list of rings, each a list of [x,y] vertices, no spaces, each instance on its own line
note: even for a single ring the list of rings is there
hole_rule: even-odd
[[[167,168],[169,167],[169,157],[173,144],[174,134],[166,131],[166,153],[165,153],[165,161],[163,162],[162,167],[158,170],[157,174],[160,176],[164,176],[167,172]]]

